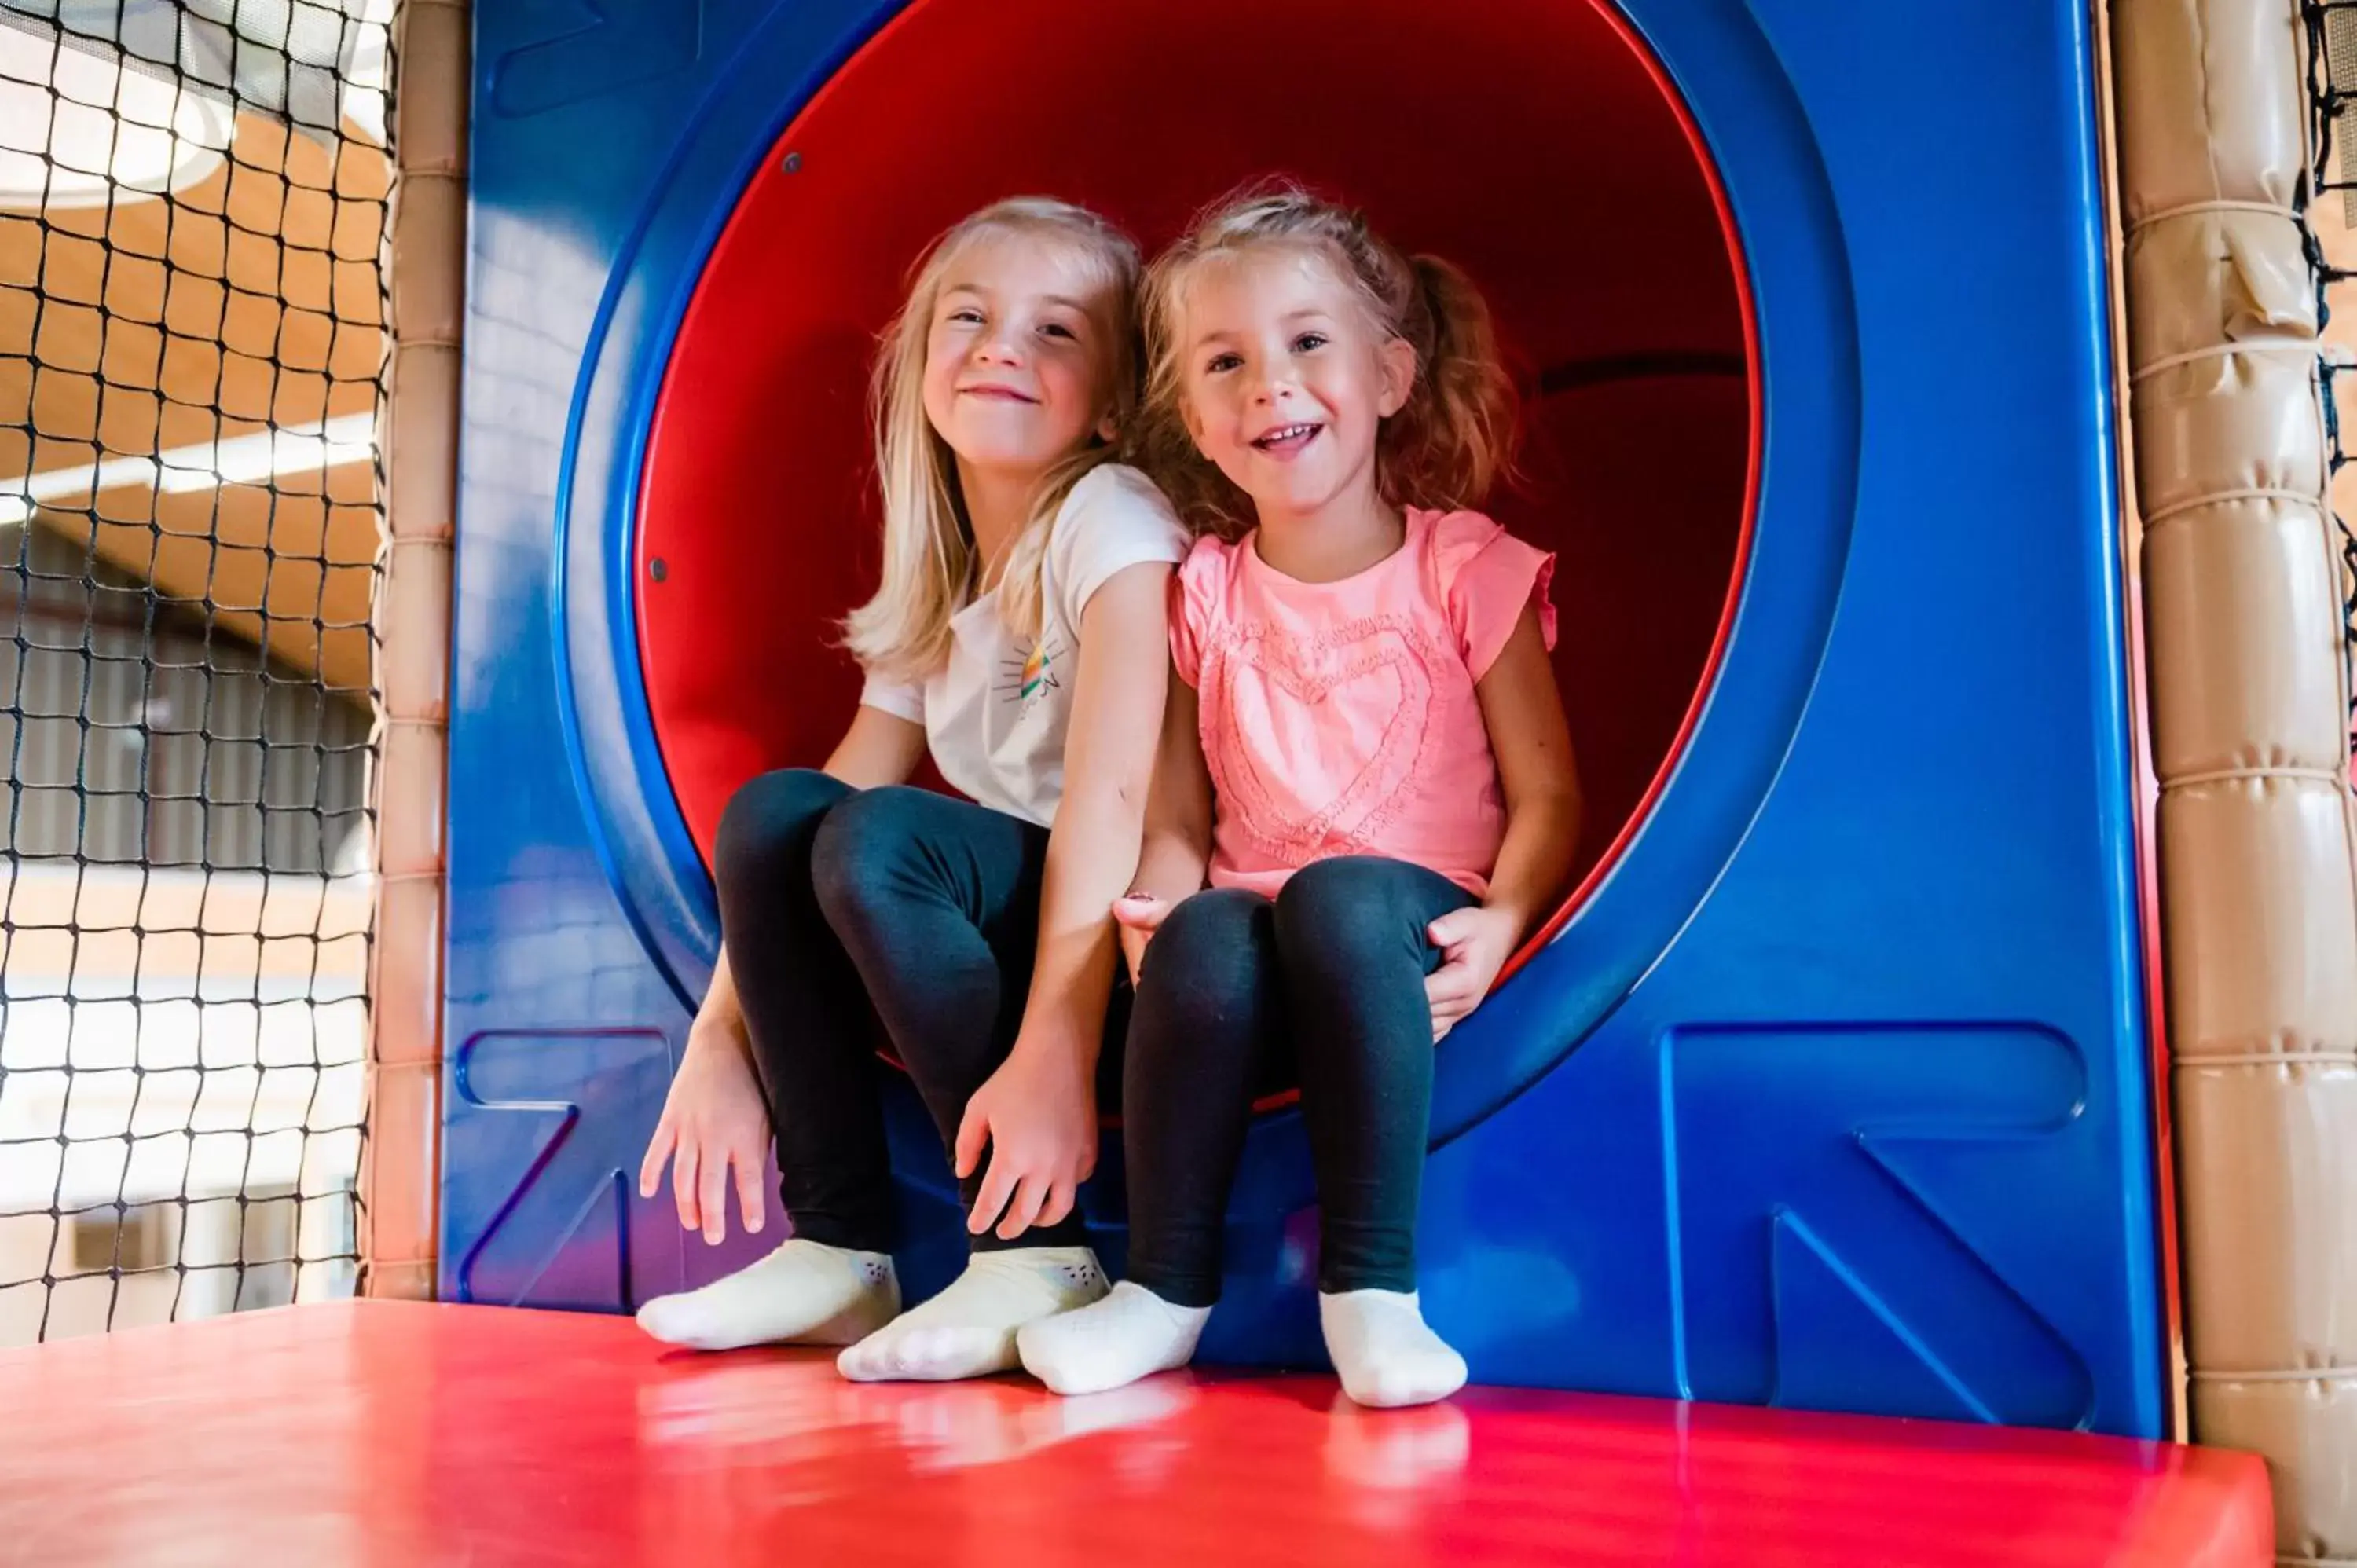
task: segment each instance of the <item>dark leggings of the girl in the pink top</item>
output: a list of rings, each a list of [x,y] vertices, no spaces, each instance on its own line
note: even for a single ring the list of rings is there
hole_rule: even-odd
[[[1169,913],[1138,979],[1122,1085],[1129,1278],[1219,1299],[1219,1240],[1254,1089],[1299,1073],[1318,1172],[1318,1287],[1414,1290],[1440,950],[1471,894],[1405,861],[1341,856],[1275,903],[1242,889]]]

